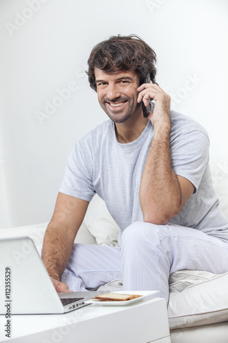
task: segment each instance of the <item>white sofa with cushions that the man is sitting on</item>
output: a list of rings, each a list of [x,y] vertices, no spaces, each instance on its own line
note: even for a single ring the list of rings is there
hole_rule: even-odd
[[[228,217],[228,158],[211,163],[214,188]],[[227,219],[228,221],[228,219]],[[47,223],[0,230],[1,237],[27,235],[36,246],[42,242]],[[98,196],[88,207],[76,242],[117,245],[118,226]],[[121,289],[121,280],[103,285],[111,292]],[[228,273],[181,270],[170,275],[168,320],[173,343],[228,342]]]

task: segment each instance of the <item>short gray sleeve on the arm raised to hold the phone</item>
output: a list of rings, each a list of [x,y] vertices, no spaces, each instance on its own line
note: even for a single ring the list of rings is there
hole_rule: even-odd
[[[197,191],[209,160],[209,139],[205,132],[182,132],[170,142],[171,165],[176,175],[187,178]]]

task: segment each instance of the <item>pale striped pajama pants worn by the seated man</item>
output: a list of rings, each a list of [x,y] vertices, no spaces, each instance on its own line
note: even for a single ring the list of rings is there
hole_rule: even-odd
[[[158,290],[168,302],[169,274],[182,269],[228,272],[228,241],[183,226],[134,222],[123,231],[121,248],[74,244],[62,282],[76,292],[123,279],[123,290]]]

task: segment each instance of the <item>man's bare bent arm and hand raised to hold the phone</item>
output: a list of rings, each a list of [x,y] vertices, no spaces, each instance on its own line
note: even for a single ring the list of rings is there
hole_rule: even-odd
[[[142,173],[140,205],[145,222],[166,224],[181,211],[192,195],[194,186],[186,178],[175,175],[170,163],[169,95],[157,84],[144,84],[138,91],[138,102],[142,97],[155,99],[153,114],[149,114],[154,136]]]

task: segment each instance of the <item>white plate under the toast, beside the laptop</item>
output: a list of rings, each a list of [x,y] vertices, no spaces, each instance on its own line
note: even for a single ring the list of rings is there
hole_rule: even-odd
[[[155,295],[158,296],[158,291],[122,291],[122,292],[112,292],[112,294],[137,294],[140,297],[135,298],[132,300],[125,300],[125,301],[100,301],[99,299],[90,299],[86,300],[86,304],[96,304],[96,305],[102,305],[102,306],[126,306],[131,305],[134,303],[138,303],[138,301],[142,301],[144,298],[147,298],[147,296],[153,296],[152,298],[156,298]]]

